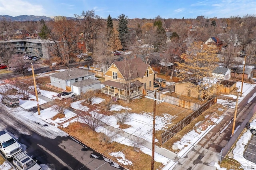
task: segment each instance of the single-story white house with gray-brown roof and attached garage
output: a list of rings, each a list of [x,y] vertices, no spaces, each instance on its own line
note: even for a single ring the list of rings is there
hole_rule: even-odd
[[[76,95],[88,90],[100,89],[100,81],[95,80],[95,74],[85,69],[70,68],[50,75],[51,85],[73,91]]]

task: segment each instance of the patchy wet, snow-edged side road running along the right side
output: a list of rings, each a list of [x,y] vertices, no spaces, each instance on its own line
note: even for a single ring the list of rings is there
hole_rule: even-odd
[[[256,98],[250,103],[248,99],[256,93],[254,88],[251,93],[244,97],[238,105],[237,117],[235,129],[242,122],[250,121],[246,117],[248,113],[253,109]],[[174,170],[216,170],[214,163],[220,160],[220,152],[222,148],[232,137],[232,127],[235,109],[228,109],[224,114],[224,119],[218,123],[204,138],[202,138],[198,144],[192,147],[192,149],[186,153],[186,156],[178,159],[178,163],[172,167]]]

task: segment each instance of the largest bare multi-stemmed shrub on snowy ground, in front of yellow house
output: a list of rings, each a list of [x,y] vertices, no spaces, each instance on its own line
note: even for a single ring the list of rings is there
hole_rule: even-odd
[[[104,125],[102,121],[106,118],[105,115],[102,115],[96,111],[92,111],[90,115],[86,115],[82,117],[82,119],[92,130],[95,130],[96,128]]]

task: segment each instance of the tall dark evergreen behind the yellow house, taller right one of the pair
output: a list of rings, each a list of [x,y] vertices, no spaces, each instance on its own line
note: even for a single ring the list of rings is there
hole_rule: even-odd
[[[118,32],[119,32],[119,39],[124,47],[126,36],[128,35],[128,20],[127,16],[124,14],[121,14],[118,16],[119,22],[118,22]]]

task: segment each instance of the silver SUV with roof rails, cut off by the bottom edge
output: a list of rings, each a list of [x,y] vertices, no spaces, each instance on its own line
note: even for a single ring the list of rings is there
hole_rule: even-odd
[[[28,154],[21,152],[13,157],[12,163],[18,170],[41,170],[37,160],[34,161]]]

